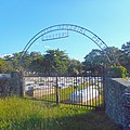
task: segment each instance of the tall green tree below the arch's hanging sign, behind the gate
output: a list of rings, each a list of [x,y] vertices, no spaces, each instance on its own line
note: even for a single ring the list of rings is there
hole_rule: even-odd
[[[43,58],[44,73],[48,75],[65,75],[67,73],[68,56],[64,51],[48,50]]]

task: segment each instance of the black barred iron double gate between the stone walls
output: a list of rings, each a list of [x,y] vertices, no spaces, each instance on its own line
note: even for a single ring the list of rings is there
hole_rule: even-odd
[[[103,103],[103,72],[87,72],[84,76],[23,75],[25,98],[87,107]]]

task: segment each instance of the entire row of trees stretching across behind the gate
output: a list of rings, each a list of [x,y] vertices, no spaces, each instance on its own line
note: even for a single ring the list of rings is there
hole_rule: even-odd
[[[82,72],[94,70],[109,65],[107,56],[113,64],[120,64],[130,72],[130,41],[122,44],[121,50],[108,47],[104,50],[93,49],[80,62],[70,58],[65,51],[47,50],[46,54],[40,52],[27,52],[22,58],[23,52],[16,52],[12,56],[0,58],[0,73],[9,73],[21,68],[29,72],[39,72],[44,75],[80,75]]]

